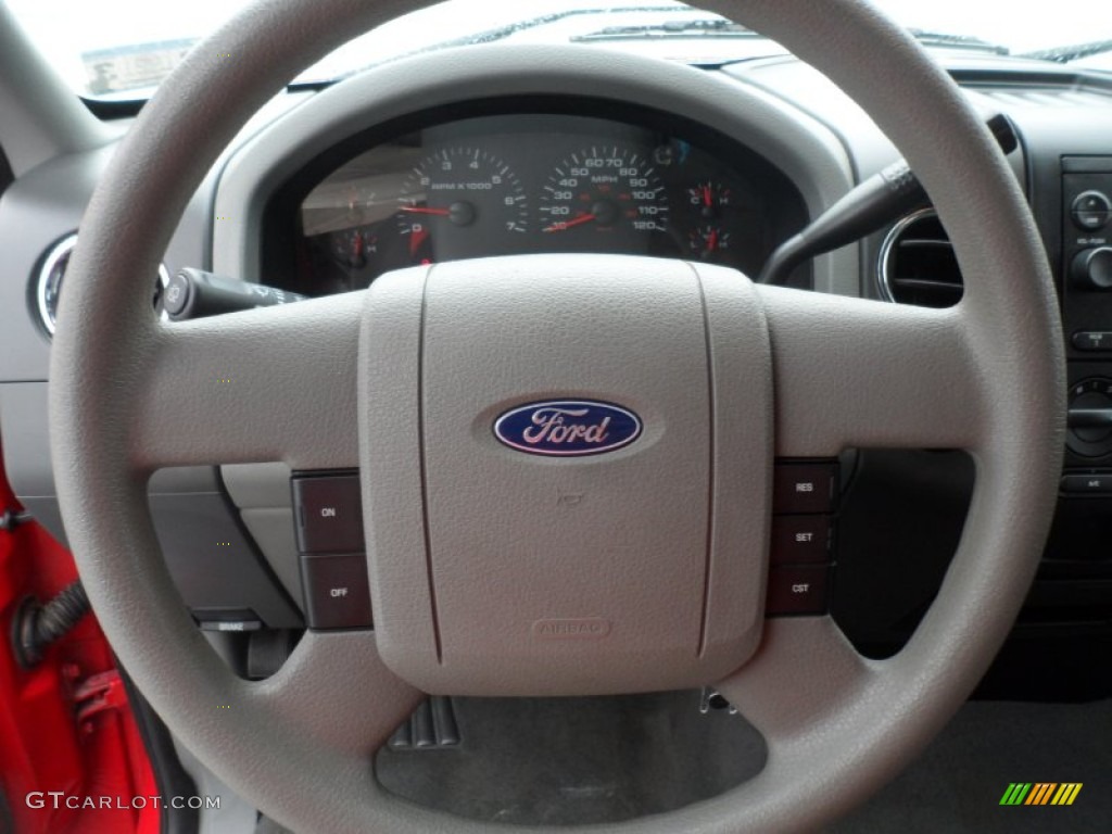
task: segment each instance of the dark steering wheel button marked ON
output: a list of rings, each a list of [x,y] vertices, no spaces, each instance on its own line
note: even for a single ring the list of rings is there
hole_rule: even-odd
[[[294,478],[297,549],[301,553],[355,553],[366,549],[358,475]]]

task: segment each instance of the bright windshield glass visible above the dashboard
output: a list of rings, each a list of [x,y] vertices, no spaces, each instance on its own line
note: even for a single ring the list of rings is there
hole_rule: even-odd
[[[251,0],[0,0],[73,89],[87,98],[150,96],[189,49]],[[1109,49],[1059,50],[1112,38],[1112,18],[1092,0],[877,0],[925,43],[994,47],[1044,60],[1112,69]],[[693,63],[743,60],[778,48],[672,0],[449,0],[363,36],[305,72],[328,81],[421,49],[468,40],[534,40],[635,48]],[[1102,22],[1103,21],[1103,22]],[[950,36],[969,39],[950,40]],[[683,46],[681,46],[683,42]],[[1095,54],[1094,54],[1095,52]]]

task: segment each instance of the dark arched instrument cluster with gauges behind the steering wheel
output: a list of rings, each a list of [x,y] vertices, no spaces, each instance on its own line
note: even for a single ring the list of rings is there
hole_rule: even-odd
[[[573,113],[552,98],[509,112],[520,105],[440,109],[320,155],[268,207],[267,280],[320,296],[416,264],[537,252],[684,258],[755,276],[806,224],[780,170],[705,127],[618,102],[576,101]],[[791,284],[810,287],[810,267]]]

